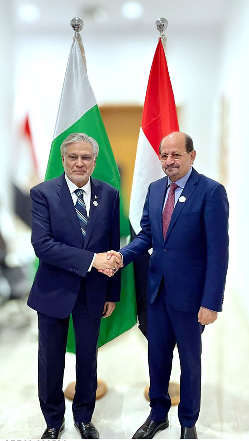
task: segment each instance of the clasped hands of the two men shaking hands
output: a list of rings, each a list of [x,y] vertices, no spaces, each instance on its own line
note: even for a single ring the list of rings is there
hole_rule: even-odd
[[[106,276],[111,277],[118,271],[119,268],[122,268],[124,265],[121,254],[117,253],[117,251],[111,250],[107,251],[107,253],[96,254],[92,266],[98,269],[99,273],[103,273],[106,274]]]

